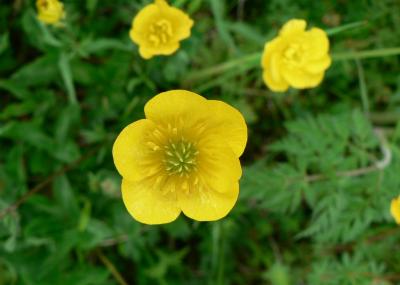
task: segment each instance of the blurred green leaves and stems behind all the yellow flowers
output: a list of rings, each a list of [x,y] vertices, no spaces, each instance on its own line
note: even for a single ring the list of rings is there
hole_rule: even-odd
[[[192,35],[147,61],[128,31],[150,1],[63,3],[53,27],[0,0],[1,285],[400,284],[399,56],[336,60],[282,94],[252,56],[292,18],[331,31],[333,54],[400,47],[399,0],[171,0]],[[240,197],[218,222],[142,225],[112,144],[178,88],[244,114]]]

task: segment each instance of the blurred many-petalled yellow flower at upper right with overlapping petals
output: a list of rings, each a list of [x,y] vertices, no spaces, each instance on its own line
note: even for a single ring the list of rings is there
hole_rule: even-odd
[[[304,20],[290,20],[276,38],[265,44],[261,65],[264,82],[271,90],[315,87],[331,65],[326,33],[305,28]]]

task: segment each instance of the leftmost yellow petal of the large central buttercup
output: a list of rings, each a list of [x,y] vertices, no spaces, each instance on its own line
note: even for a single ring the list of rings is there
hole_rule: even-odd
[[[139,120],[127,127],[118,135],[114,142],[112,154],[114,164],[122,177],[137,181],[147,176],[146,134],[154,128],[150,120]]]

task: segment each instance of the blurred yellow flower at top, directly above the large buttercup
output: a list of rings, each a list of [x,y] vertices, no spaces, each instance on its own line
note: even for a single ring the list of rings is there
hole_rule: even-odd
[[[129,36],[139,45],[139,53],[149,59],[154,55],[170,55],[180,41],[190,36],[192,19],[171,7],[165,0],[156,0],[144,7],[133,19]]]

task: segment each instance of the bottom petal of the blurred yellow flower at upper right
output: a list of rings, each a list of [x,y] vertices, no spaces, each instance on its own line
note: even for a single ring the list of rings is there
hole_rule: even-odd
[[[324,73],[309,73],[301,68],[282,66],[282,75],[293,87],[298,89],[315,87],[321,83]]]

